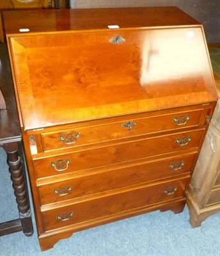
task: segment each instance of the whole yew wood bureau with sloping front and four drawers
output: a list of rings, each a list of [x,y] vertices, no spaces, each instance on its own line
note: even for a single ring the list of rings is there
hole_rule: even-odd
[[[201,24],[175,7],[3,15],[42,250],[183,211],[217,101]]]

